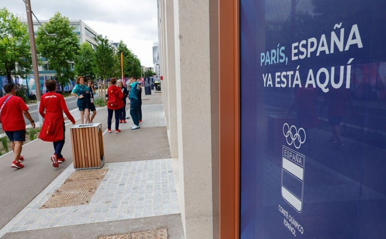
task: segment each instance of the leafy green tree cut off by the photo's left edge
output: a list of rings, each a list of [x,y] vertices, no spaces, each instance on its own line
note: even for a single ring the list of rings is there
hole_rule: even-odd
[[[17,66],[17,67],[16,67]],[[10,13],[0,9],[0,75],[26,78],[32,70],[30,39],[27,25]]]

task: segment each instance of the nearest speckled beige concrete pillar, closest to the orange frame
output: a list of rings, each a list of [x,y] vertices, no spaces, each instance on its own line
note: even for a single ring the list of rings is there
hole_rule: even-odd
[[[209,0],[174,1],[179,178],[186,238],[212,238]]]

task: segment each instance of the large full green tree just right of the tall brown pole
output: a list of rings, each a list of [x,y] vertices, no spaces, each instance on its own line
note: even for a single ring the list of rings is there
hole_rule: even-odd
[[[59,84],[63,87],[69,79],[74,78],[71,62],[74,62],[78,55],[79,40],[68,18],[59,12],[55,13],[48,22],[43,23],[43,26],[47,33],[56,35],[47,35],[40,27],[36,38],[36,50],[48,59],[50,68],[56,71]]]

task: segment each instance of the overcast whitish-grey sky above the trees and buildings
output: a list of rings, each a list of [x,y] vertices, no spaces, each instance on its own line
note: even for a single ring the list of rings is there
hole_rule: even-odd
[[[122,40],[143,66],[153,67],[153,42],[158,41],[157,0],[30,1],[39,21],[48,20],[56,12],[69,20],[82,20],[103,37]],[[1,0],[0,8],[4,7],[26,19],[23,0]]]

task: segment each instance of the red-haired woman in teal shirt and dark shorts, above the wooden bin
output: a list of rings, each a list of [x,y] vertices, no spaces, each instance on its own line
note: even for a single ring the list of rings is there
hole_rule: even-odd
[[[83,76],[78,76],[76,78],[76,85],[72,89],[71,95],[78,98],[76,104],[80,112],[80,124],[86,123],[90,115],[90,94],[89,88],[85,85],[85,78]]]

